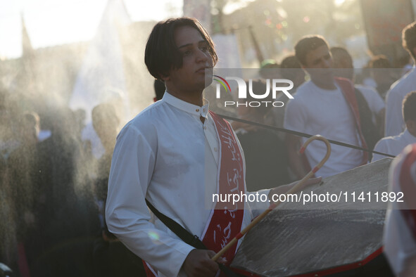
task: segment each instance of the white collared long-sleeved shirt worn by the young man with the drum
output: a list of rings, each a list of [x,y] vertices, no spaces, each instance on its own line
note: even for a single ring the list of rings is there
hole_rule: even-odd
[[[201,237],[215,205],[211,199],[217,191],[218,160],[219,141],[208,105],[192,105],[167,92],[120,131],[108,182],[108,229],[156,267],[159,276],[182,276],[179,270],[194,247],[158,219],[153,223],[144,198]],[[268,205],[255,204],[253,209]],[[246,208],[243,228],[252,219]]]

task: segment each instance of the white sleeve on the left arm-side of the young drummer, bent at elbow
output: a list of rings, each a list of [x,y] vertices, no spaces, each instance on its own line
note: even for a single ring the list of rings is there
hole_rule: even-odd
[[[150,138],[151,131],[145,131],[130,124],[118,136],[108,181],[106,221],[108,230],[135,255],[164,275],[177,276],[194,247],[150,221],[144,198],[156,163],[157,140]]]

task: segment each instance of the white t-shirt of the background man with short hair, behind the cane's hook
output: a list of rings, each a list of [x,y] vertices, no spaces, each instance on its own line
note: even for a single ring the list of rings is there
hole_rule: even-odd
[[[306,134],[320,134],[326,139],[361,146],[355,119],[341,89],[320,89],[312,81],[299,86],[284,115],[284,128]],[[303,138],[303,142],[306,139]],[[358,167],[363,161],[360,150],[332,144],[329,160],[317,172],[327,177]],[[315,167],[327,152],[322,141],[313,141],[305,150],[310,167]]]

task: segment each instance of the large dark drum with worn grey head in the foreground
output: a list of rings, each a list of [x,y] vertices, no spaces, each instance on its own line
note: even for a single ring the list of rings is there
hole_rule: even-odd
[[[328,177],[303,191],[341,195],[339,202],[280,205],[246,234],[232,266],[259,276],[392,276],[382,255],[388,203],[381,198],[388,191],[391,160]]]

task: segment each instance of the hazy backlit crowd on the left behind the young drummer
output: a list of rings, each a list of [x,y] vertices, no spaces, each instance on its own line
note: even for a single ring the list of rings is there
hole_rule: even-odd
[[[60,107],[41,117],[4,89],[0,98],[0,262],[13,276],[140,273],[103,217],[120,124],[112,103],[92,110],[96,138],[82,139],[84,111]]]

